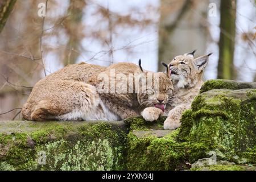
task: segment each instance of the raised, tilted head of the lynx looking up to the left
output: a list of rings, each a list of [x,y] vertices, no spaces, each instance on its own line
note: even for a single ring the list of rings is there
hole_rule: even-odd
[[[177,88],[190,88],[201,81],[204,69],[208,63],[208,58],[212,53],[195,59],[195,52],[196,50],[176,56],[171,60],[170,64],[168,64],[171,79]]]

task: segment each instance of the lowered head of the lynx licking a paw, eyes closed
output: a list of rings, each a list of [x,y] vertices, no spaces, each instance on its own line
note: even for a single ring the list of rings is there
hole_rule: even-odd
[[[137,94],[138,102],[142,107],[158,107],[164,111],[174,87],[170,79],[170,74],[167,73],[153,73],[143,71],[141,67],[141,61],[139,61],[139,67],[142,71],[141,86]],[[145,81],[146,80],[146,81]]]

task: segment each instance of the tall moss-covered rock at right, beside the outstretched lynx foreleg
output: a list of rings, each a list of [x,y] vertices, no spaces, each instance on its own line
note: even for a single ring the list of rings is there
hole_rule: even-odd
[[[215,151],[218,159],[256,163],[256,89],[201,93],[190,114],[192,128],[187,139],[192,162]]]

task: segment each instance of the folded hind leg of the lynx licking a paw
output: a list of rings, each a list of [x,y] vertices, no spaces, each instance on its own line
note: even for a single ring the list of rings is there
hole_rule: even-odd
[[[31,112],[32,120],[76,121],[87,119],[100,107],[100,97],[92,85],[66,80],[53,86],[54,92],[49,93],[45,100],[34,105]]]

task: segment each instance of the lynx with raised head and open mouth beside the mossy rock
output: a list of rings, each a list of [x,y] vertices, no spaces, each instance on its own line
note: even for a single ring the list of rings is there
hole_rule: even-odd
[[[196,59],[194,53],[195,51],[176,56],[170,64],[166,65],[174,84],[174,96],[171,98],[170,107],[167,108],[168,117],[164,121],[164,129],[166,130],[174,130],[180,126],[181,114],[184,110],[191,108],[193,99],[199,94],[203,85],[202,76],[211,53]],[[145,111],[148,113],[149,110],[154,110],[154,108],[146,108],[142,112],[142,116],[147,121],[152,121],[144,113]],[[158,117],[159,115],[154,115],[154,120]]]

